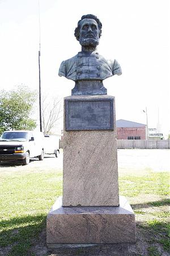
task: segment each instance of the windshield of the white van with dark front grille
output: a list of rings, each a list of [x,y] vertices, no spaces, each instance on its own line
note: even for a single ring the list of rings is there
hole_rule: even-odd
[[[17,132],[8,132],[2,134],[0,141],[27,141],[28,133],[24,131],[17,131]]]

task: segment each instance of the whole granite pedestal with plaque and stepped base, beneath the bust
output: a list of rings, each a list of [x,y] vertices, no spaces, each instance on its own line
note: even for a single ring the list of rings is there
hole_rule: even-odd
[[[135,216],[118,194],[114,97],[65,98],[63,197],[47,217],[48,247],[135,242]]]

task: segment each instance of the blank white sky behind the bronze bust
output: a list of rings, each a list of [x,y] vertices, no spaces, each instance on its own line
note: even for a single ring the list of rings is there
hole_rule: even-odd
[[[122,76],[104,80],[116,97],[116,118],[146,123],[164,136],[170,133],[170,1],[169,0],[40,0],[41,86],[62,97],[74,82],[58,77],[62,60],[81,47],[74,29],[84,14],[103,23],[101,55],[117,59]],[[39,1],[0,0],[0,86],[39,88]]]

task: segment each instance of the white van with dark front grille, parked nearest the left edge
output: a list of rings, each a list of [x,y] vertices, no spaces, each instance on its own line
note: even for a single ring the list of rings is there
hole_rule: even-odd
[[[22,160],[29,163],[29,158],[44,159],[44,134],[35,131],[5,131],[0,137],[0,162]]]

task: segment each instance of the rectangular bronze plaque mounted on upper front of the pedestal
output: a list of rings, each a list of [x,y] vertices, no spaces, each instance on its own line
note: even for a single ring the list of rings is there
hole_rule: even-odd
[[[66,131],[113,130],[113,98],[66,99]]]

